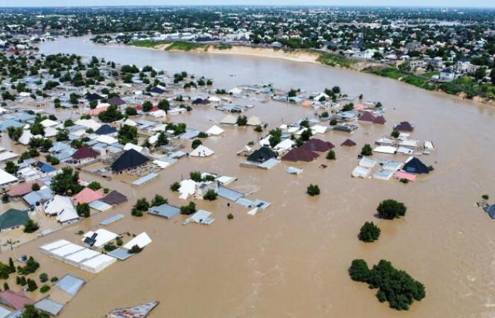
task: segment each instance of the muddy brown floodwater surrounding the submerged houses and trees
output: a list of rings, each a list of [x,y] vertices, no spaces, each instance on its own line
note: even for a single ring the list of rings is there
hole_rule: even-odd
[[[115,307],[151,300],[161,302],[150,315],[153,318],[495,316],[495,224],[475,206],[482,194],[495,196],[493,107],[365,73],[279,59],[97,46],[88,37],[46,42],[40,52],[94,55],[120,64],[151,65],[168,73],[187,71],[213,78],[215,88],[227,90],[257,83],[310,92],[340,86],[349,95],[363,93],[365,100],[382,102],[387,119],[385,125],[361,124],[350,137],[358,144],[354,148],[339,146],[349,134],[330,131],[318,136],[336,146],[334,162],[321,154],[312,163],[282,162],[267,171],[239,167],[244,158],[235,153],[261,136],[252,127],[239,127],[226,128],[223,136],[203,141],[215,155],[181,159],[140,188],[119,177],[108,182],[82,173],[85,179],[127,195],[129,202],[15,250],[17,255],[33,255],[50,276],[73,273],[88,281],[60,317],[99,318]],[[313,110],[301,106],[248,103],[255,107],[245,114],[260,117],[270,127],[314,117]],[[205,130],[224,116],[211,106],[199,106],[170,119]],[[392,126],[404,120],[416,125],[414,139],[435,143],[437,151],[421,157],[435,170],[409,184],[352,178],[361,146],[389,135]],[[396,158],[403,161],[406,157]],[[322,163],[328,167],[319,167]],[[289,175],[285,171],[289,165],[302,167],[304,172]],[[151,199],[161,194],[170,204],[186,204],[169,187],[188,177],[191,170],[235,176],[238,181],[228,187],[254,192],[248,198],[269,201],[272,206],[250,216],[248,209],[238,205],[227,207],[224,199],[196,201],[198,208],[213,213],[216,222],[211,226],[182,226],[182,216],[165,220],[130,215],[131,206],[143,196]],[[310,183],[319,185],[320,196],[305,194]],[[383,199],[404,202],[405,218],[375,218],[375,208]],[[57,239],[79,243],[78,230],[97,228],[100,220],[117,213],[125,218],[108,225],[108,230],[146,231],[153,240],[136,257],[93,275],[39,252],[40,245]],[[227,220],[228,213],[235,218]],[[357,239],[367,220],[382,229],[380,240],[373,244]],[[3,251],[1,260],[9,256],[11,252]],[[365,259],[370,265],[380,259],[392,261],[424,283],[426,298],[408,312],[390,309],[376,300],[375,290],[351,281],[347,269],[353,259]]]

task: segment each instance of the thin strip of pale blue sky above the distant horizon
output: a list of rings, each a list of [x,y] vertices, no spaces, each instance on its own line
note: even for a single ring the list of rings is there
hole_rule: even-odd
[[[495,0],[0,0],[0,6],[139,6],[222,4],[273,6],[476,6],[495,8]]]

